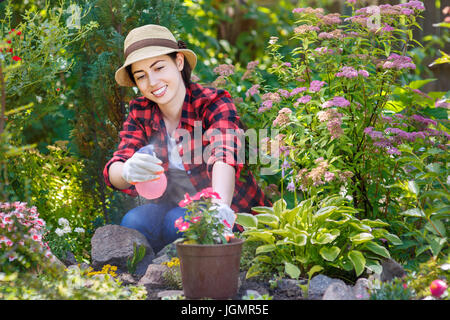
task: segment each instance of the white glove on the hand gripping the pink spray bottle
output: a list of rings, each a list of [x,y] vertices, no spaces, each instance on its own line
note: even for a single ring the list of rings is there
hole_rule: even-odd
[[[156,156],[138,151],[125,162],[122,177],[131,184],[155,180],[164,172],[161,164]]]

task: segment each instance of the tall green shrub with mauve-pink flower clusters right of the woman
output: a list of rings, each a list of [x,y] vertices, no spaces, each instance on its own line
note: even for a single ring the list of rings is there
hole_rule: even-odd
[[[241,96],[235,99],[241,113],[258,118],[255,127],[279,130],[282,197],[287,190],[297,204],[297,193],[303,199],[341,194],[362,217],[387,217],[406,209],[394,200],[400,190],[392,188],[412,178],[398,162],[403,146],[419,157],[423,147],[447,149],[445,97],[424,97],[417,83],[401,89],[416,68],[408,49],[417,43],[412,28],[424,10],[420,1],[349,4],[354,13],[348,17],[294,9],[294,33],[285,46],[281,36],[271,37],[265,70],[251,62],[240,79],[236,68],[220,77]],[[262,150],[266,142],[274,141],[260,141]],[[269,149],[263,150],[267,156]]]

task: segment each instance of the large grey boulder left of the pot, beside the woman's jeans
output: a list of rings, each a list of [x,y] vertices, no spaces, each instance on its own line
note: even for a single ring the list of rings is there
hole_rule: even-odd
[[[128,271],[127,261],[134,255],[133,245],[144,246],[145,256],[136,266],[136,275],[143,275],[155,254],[147,239],[139,231],[119,225],[98,228],[91,239],[91,259],[94,269],[106,264],[117,266],[118,272]]]

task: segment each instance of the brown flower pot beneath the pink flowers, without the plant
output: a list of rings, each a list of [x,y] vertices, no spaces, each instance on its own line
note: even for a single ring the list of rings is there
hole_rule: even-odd
[[[236,295],[242,239],[201,245],[177,243],[184,295],[188,299],[229,299]]]

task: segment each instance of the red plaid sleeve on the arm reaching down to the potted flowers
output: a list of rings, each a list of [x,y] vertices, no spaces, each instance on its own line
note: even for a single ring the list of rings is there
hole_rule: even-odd
[[[244,161],[243,130],[239,127],[236,106],[228,92],[219,91],[217,97],[206,108],[203,121],[205,136],[210,144],[206,162],[209,178],[217,161],[234,167],[236,177],[239,178]]]

